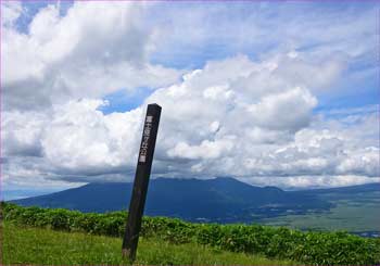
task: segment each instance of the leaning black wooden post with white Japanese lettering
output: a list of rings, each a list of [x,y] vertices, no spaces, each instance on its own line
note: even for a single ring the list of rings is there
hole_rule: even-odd
[[[134,191],[129,202],[128,220],[123,240],[123,256],[129,256],[135,261],[141,219],[148,191],[149,176],[153,162],[155,139],[157,137],[161,106],[149,104],[143,125],[140,152],[137,162],[137,169],[134,182]]]

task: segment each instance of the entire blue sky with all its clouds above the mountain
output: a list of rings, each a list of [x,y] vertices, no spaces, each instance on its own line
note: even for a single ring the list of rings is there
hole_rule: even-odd
[[[3,199],[152,178],[380,181],[376,1],[1,1]]]

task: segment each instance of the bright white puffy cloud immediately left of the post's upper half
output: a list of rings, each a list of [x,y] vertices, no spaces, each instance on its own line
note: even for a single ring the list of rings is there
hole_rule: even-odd
[[[56,106],[41,137],[47,161],[78,175],[101,175],[135,164],[141,110],[103,115],[100,100]]]

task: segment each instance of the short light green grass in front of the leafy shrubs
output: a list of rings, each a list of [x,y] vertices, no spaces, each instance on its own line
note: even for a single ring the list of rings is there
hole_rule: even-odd
[[[1,265],[127,265],[122,240],[79,232],[1,226]],[[258,255],[220,251],[194,243],[170,244],[157,238],[140,238],[137,265],[294,265]]]

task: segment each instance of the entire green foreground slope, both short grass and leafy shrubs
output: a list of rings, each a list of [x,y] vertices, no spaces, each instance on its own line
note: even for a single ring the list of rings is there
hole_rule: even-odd
[[[17,258],[20,255],[24,259],[28,259],[29,256],[34,257],[31,253],[48,259],[39,261],[37,264],[67,265],[72,264],[69,262],[77,262],[75,259],[81,259],[80,257],[90,259],[86,264],[96,262],[91,261],[94,259],[91,257],[100,259],[96,264],[101,264],[103,262],[101,259],[122,263],[119,261],[119,239],[124,236],[126,212],[85,214],[59,208],[21,207],[9,203],[2,203],[1,211],[5,223],[4,254],[8,253],[4,255],[4,263],[34,263],[31,261],[12,261],[13,258],[8,257]],[[45,231],[20,229],[22,227],[39,227],[43,228]],[[8,230],[8,228],[11,229]],[[53,232],[47,231],[47,229],[67,232]],[[27,233],[28,230],[29,235],[23,237],[23,233]],[[56,237],[52,236],[46,239],[43,236],[49,233]],[[114,237],[103,240],[114,241],[115,249],[107,251],[106,246],[113,246],[112,244],[103,243],[101,237],[98,241],[97,237],[89,235]],[[261,225],[192,224],[174,218],[145,216],[142,220],[140,236],[142,241],[139,246],[138,259],[142,259],[139,261],[141,264],[264,264],[265,262],[282,264],[290,261],[307,265],[373,265],[380,263],[379,239],[366,239],[343,231],[303,232]],[[85,239],[85,237],[89,239]],[[51,242],[54,239],[56,242]],[[83,242],[80,243],[80,241]],[[143,248],[144,244],[145,248]],[[163,249],[164,246],[167,249]],[[87,252],[86,249],[91,251]],[[162,251],[159,252],[154,249],[162,249]],[[46,253],[43,253],[45,251]],[[233,253],[226,253],[227,251]],[[159,257],[144,255],[144,252],[157,254]],[[61,257],[65,257],[61,256],[63,253],[67,253],[69,256],[74,254],[74,257],[77,258],[67,257],[67,261],[59,263]],[[240,256],[239,254],[243,257],[235,257],[235,255]],[[90,257],[87,257],[88,255]],[[261,261],[263,257],[274,261]]]

